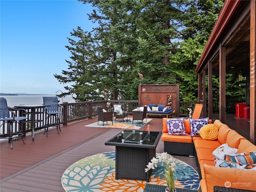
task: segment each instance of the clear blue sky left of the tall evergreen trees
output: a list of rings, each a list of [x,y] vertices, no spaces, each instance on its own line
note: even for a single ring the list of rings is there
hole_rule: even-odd
[[[0,92],[64,92],[53,74],[68,69],[70,32],[95,26],[91,12],[76,0],[0,0]]]

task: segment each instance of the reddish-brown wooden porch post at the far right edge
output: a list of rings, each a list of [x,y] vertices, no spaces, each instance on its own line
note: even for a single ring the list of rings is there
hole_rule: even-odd
[[[250,26],[250,141],[256,144],[256,2],[251,0],[251,26]]]

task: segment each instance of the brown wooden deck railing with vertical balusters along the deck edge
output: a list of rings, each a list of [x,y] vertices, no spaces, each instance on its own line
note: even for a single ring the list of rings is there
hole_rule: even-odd
[[[110,105],[107,105],[110,102]],[[226,110],[230,113],[235,113],[236,103],[242,103],[244,101],[226,101]],[[60,109],[62,114],[59,114],[59,118],[63,125],[67,125],[70,122],[75,122],[83,119],[92,118],[97,116],[97,107],[103,107],[107,111],[113,110],[113,104],[121,104],[122,109],[128,114],[132,114],[132,110],[138,107],[138,100],[101,100],[101,101],[88,101],[88,102],[76,102],[67,103],[64,102],[60,104]],[[201,102],[183,102],[180,101],[180,109],[177,116],[189,116],[188,108],[194,109],[196,103],[202,103],[206,106],[203,111],[203,116],[206,116],[207,104],[206,101]],[[218,112],[219,103],[218,101],[213,102],[213,112]],[[16,112],[16,116],[19,116]],[[35,123],[35,130],[41,130],[44,128],[46,115],[42,108],[36,109],[36,119],[41,120]],[[27,119],[30,120],[30,111],[27,111]],[[50,119],[50,123],[53,123],[54,119]],[[18,131],[20,128],[17,124],[13,125],[14,132]],[[31,123],[23,123],[23,133],[31,132]],[[8,136],[8,130],[6,124],[3,124],[0,129],[1,137]]]

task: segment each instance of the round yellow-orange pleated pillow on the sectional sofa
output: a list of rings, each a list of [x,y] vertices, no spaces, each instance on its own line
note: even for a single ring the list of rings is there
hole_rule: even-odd
[[[199,134],[204,140],[215,140],[218,138],[219,130],[214,124],[207,124],[200,128]]]

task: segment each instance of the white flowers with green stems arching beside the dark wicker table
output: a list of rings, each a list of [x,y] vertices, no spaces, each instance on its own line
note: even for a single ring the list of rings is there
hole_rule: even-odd
[[[148,172],[150,169],[157,168],[158,162],[164,162],[166,166],[165,178],[169,192],[174,192],[175,187],[173,172],[176,169],[176,164],[174,161],[175,159],[172,159],[172,157],[169,154],[167,154],[167,152],[163,152],[160,155],[158,155],[157,158],[153,157],[153,159],[151,160],[151,162],[148,163],[147,168],[145,169],[145,172]]]

